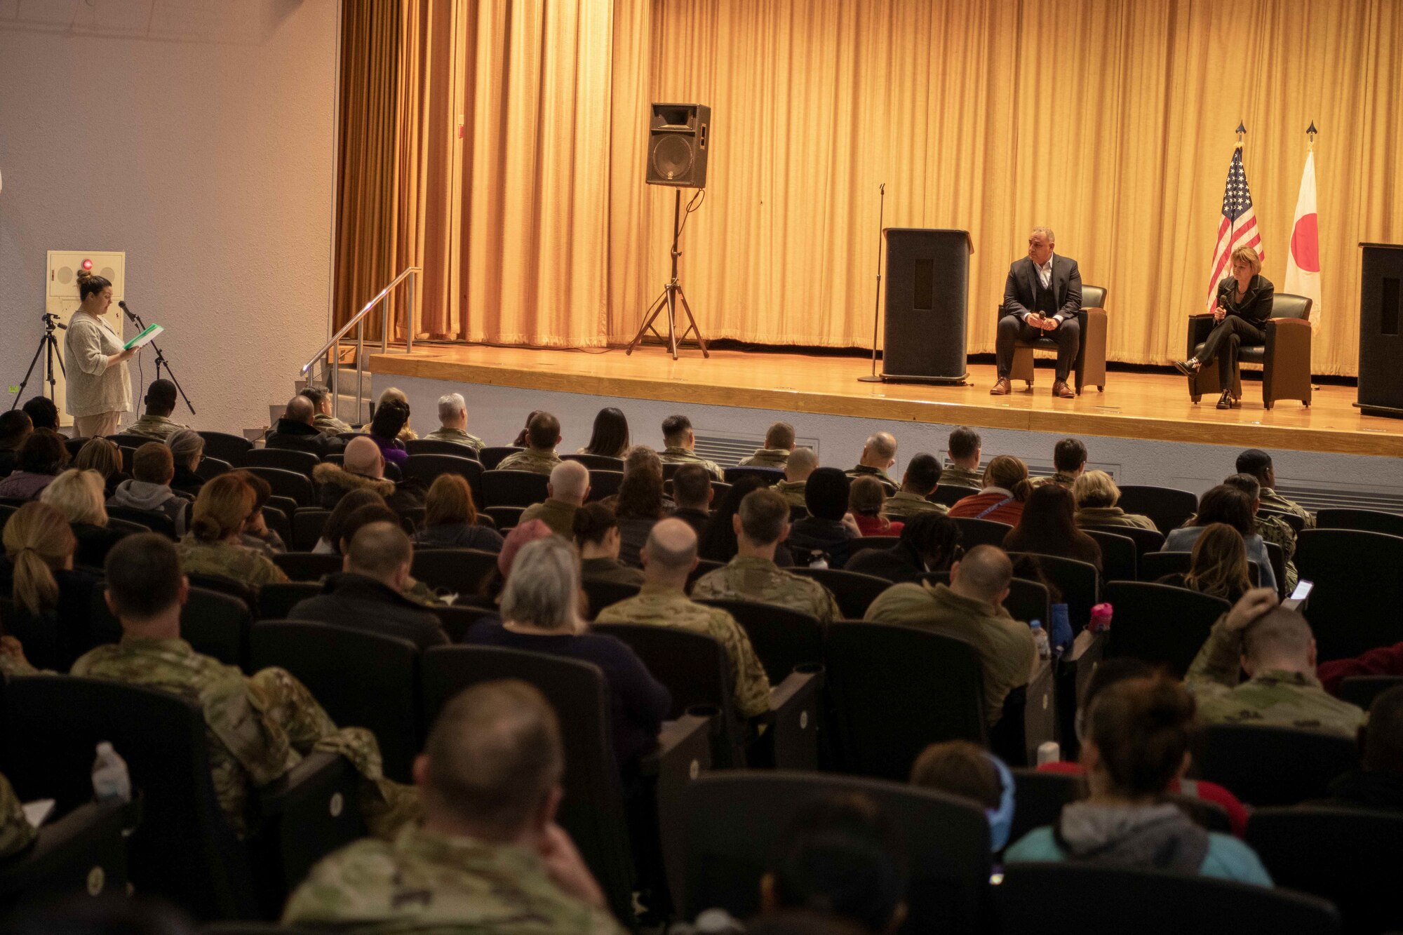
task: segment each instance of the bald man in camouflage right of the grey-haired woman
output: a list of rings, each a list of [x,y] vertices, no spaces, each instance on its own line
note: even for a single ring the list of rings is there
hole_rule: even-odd
[[[702,633],[725,647],[731,660],[735,706],[745,717],[770,709],[770,679],[751,637],[721,608],[686,595],[687,576],[697,567],[697,533],[680,519],[659,519],[640,553],[645,583],[637,597],[599,611],[596,623],[652,623]]]

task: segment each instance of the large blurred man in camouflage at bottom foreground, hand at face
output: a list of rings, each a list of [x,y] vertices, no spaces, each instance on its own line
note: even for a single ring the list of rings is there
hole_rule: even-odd
[[[622,935],[560,825],[564,748],[530,685],[476,685],[439,715],[414,779],[424,824],[323,859],[282,921],[337,931]]]

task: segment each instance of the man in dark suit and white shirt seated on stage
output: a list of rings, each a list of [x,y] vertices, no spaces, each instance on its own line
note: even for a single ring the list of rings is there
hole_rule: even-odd
[[[1003,286],[1003,317],[995,352],[999,379],[989,390],[993,396],[1009,393],[1009,372],[1013,369],[1013,343],[1048,337],[1056,341],[1056,379],[1052,396],[1075,399],[1066,385],[1066,375],[1076,362],[1076,348],[1082,340],[1082,324],[1076,313],[1082,309],[1082,274],[1076,260],[1052,253],[1054,237],[1048,227],[1034,227],[1028,234],[1028,256],[1009,267],[1009,281]]]

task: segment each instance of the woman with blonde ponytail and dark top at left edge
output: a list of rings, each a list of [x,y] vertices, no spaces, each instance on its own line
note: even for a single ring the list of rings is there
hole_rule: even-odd
[[[74,570],[77,538],[46,503],[27,503],[4,524],[4,571],[15,616],[7,628],[24,633],[29,656],[45,668],[67,671],[91,647],[88,608],[101,577]],[[32,674],[14,635],[0,640],[0,671]]]

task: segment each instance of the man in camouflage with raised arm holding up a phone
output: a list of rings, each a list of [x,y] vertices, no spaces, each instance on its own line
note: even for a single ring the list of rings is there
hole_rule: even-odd
[[[1237,684],[1239,668],[1246,682]],[[1271,588],[1254,588],[1214,623],[1184,684],[1205,723],[1299,727],[1352,740],[1364,712],[1327,695],[1315,672],[1310,625],[1278,606]]]

